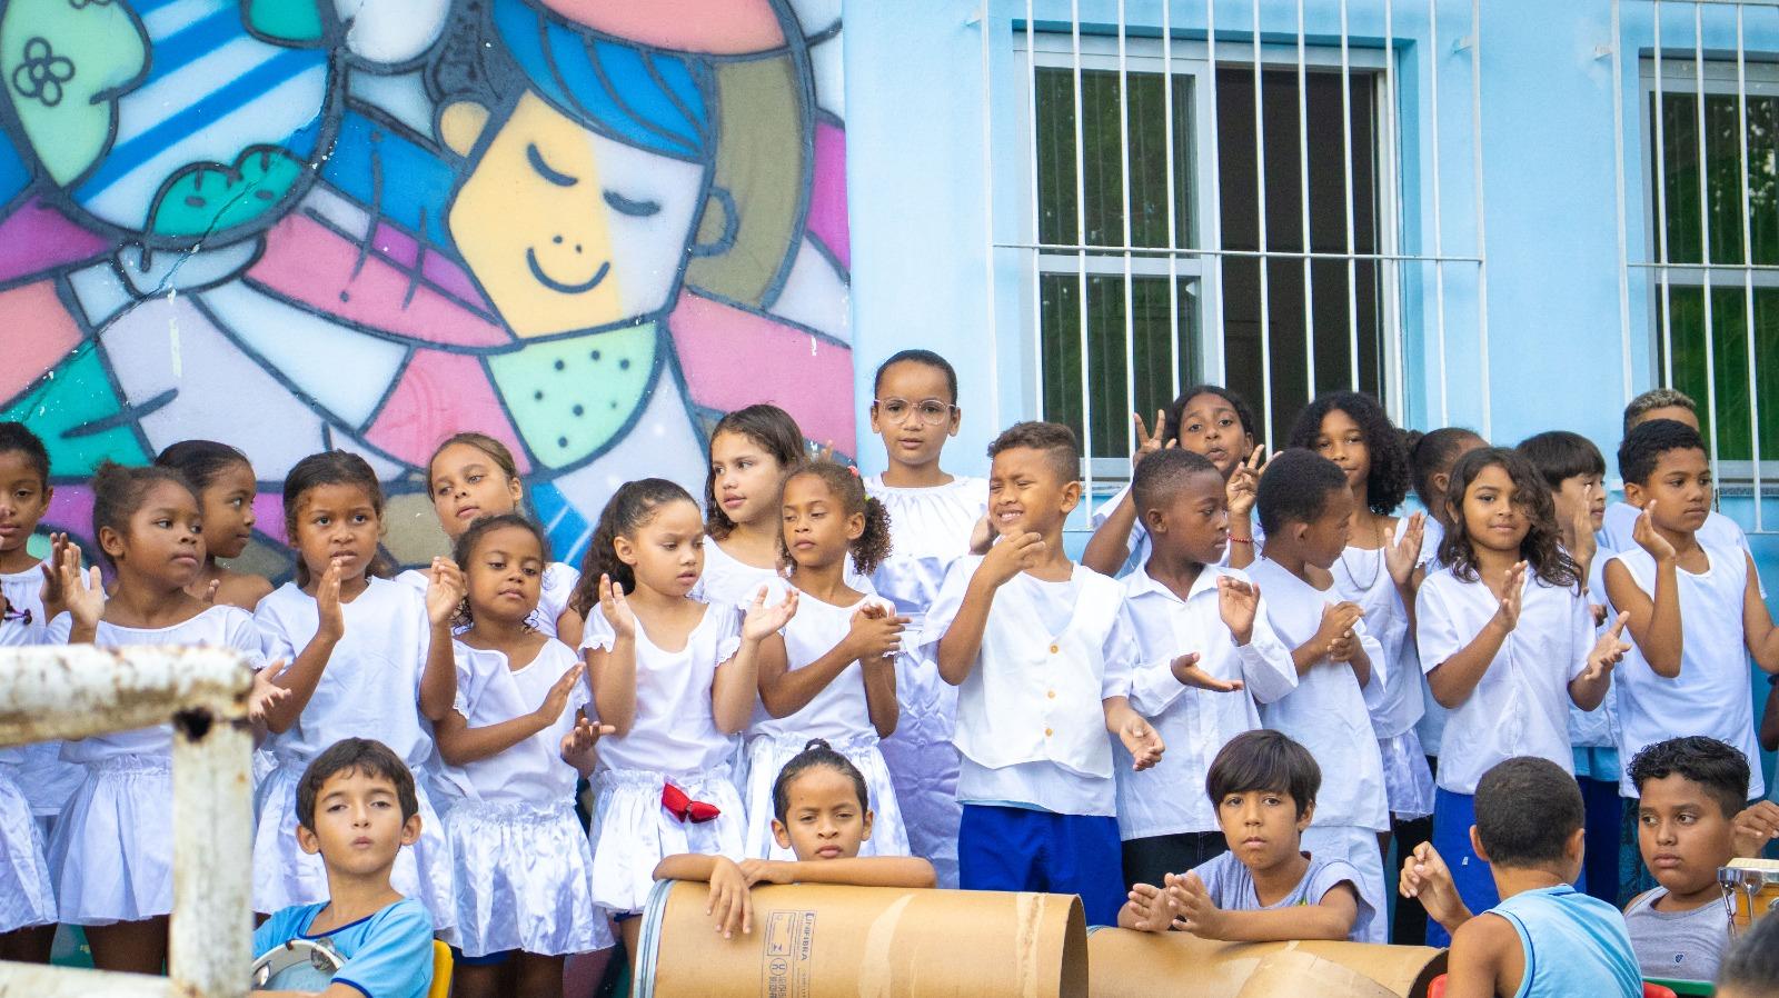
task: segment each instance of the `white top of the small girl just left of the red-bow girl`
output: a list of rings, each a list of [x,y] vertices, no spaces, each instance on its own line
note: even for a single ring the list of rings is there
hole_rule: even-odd
[[[550,688],[580,664],[575,649],[560,640],[546,640],[537,656],[514,669],[502,651],[452,642],[457,658],[457,699],[452,708],[470,728],[489,728],[523,717],[543,706]],[[575,712],[587,706],[592,694],[582,678],[568,696],[568,706],[543,731],[503,753],[452,767],[452,779],[470,797],[498,804],[568,804],[575,797],[575,767],[562,761],[562,738],[575,729]]]

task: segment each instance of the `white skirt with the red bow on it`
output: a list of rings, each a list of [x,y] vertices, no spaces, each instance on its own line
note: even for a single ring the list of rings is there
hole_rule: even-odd
[[[662,808],[662,786],[672,781],[687,797],[715,804],[708,822],[681,822]],[[603,770],[594,776],[598,801],[592,840],[592,904],[612,914],[637,914],[655,888],[655,866],[667,856],[703,852],[745,859],[747,813],[742,795],[720,767],[692,776],[655,770]]]

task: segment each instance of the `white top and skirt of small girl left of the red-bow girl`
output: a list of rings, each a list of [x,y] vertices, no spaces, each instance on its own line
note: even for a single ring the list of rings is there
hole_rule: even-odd
[[[580,664],[550,640],[530,664],[512,669],[500,651],[455,642],[457,701],[470,728],[532,713],[550,688]],[[562,738],[585,710],[587,683],[575,683],[555,724],[448,772],[463,797],[445,818],[457,893],[457,945],[470,957],[503,950],[568,955],[612,945],[605,916],[592,907],[592,849],[575,818],[575,767],[562,761]]]

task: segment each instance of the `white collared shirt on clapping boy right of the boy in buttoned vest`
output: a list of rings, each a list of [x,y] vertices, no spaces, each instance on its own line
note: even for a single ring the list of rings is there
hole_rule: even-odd
[[[1123,578],[1124,610],[1142,653],[1131,676],[1130,704],[1155,724],[1167,744],[1162,761],[1133,772],[1130,754],[1117,751],[1117,815],[1124,840],[1158,834],[1217,831],[1217,808],[1204,793],[1211,760],[1231,738],[1260,728],[1254,703],[1272,703],[1297,688],[1292,649],[1267,621],[1261,594],[1254,632],[1235,644],[1222,621],[1217,578],[1247,582],[1240,569],[1204,566],[1181,600],[1146,569]],[[1188,651],[1219,680],[1242,680],[1229,694],[1185,687],[1172,660]]]

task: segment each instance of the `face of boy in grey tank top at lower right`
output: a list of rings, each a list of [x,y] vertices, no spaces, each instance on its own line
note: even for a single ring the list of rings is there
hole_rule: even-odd
[[[1646,779],[1637,802],[1637,849],[1656,882],[1674,895],[1717,888],[1733,852],[1731,818],[1703,786],[1679,774]]]

